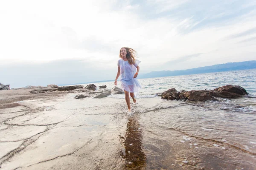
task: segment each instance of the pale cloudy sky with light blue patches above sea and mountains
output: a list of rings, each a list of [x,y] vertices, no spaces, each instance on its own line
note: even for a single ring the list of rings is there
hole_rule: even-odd
[[[139,74],[256,60],[255,21],[255,0],[1,1],[0,82],[115,79],[123,46]]]

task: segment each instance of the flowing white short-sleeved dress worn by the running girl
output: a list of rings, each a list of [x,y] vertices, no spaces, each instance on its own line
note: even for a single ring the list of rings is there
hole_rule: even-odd
[[[136,73],[136,67],[139,64],[140,61],[137,59],[135,60],[135,64],[129,64],[128,61],[124,61],[123,59],[118,60],[117,65],[120,67],[122,90],[133,93],[141,89],[139,81],[136,78],[133,78]]]

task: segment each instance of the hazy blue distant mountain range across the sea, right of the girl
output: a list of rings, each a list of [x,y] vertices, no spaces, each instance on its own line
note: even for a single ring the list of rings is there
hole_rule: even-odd
[[[233,70],[247,70],[256,68],[256,60],[244,61],[244,62],[228,62],[226,64],[217,64],[206,67],[191,68],[187,70],[176,70],[176,71],[152,71],[147,74],[140,75],[140,79],[154,78],[154,77],[169,77],[169,76],[180,76],[189,74],[201,74],[201,73],[212,73],[222,71],[233,71]]]

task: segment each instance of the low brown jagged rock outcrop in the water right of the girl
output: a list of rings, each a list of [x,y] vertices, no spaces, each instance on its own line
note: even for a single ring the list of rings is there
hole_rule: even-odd
[[[217,98],[233,99],[247,95],[247,91],[238,85],[225,85],[214,90],[192,90],[177,92],[175,88],[162,93],[162,99],[189,99],[195,101],[218,100]]]

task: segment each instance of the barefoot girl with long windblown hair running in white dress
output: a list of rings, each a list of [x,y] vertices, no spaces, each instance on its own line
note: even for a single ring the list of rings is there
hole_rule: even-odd
[[[121,88],[125,91],[125,101],[128,106],[128,111],[131,111],[130,96],[134,103],[136,103],[134,92],[139,91],[141,88],[140,83],[137,79],[135,79],[140,71],[140,61],[137,59],[135,60],[135,57],[137,57],[137,52],[128,47],[122,47],[120,49],[119,57],[121,59],[119,59],[117,62],[118,72],[116,75],[115,85],[117,85],[117,79],[121,74]]]

